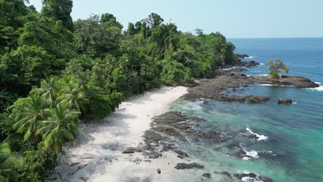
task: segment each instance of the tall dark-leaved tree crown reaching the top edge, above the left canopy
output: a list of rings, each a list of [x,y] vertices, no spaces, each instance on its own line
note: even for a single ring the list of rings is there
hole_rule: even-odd
[[[43,0],[43,9],[41,10],[41,13],[46,17],[61,20],[63,25],[73,32],[74,26],[72,17],[70,17],[72,7],[72,0]]]

